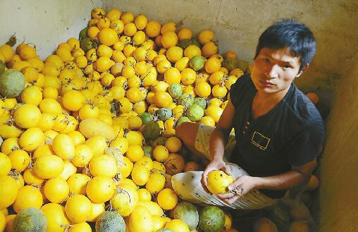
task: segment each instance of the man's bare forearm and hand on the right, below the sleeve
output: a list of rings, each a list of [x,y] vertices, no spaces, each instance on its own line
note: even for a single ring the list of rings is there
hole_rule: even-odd
[[[242,195],[249,193],[250,190],[257,189],[269,189],[269,190],[286,190],[289,188],[295,188],[300,185],[304,185],[309,181],[311,174],[316,169],[316,159],[308,162],[302,166],[292,166],[292,170],[286,173],[278,174],[275,176],[256,177],[256,176],[240,176],[231,185],[228,186],[228,190],[235,190],[242,188]],[[224,195],[218,195],[223,201],[228,204],[232,204],[240,195],[234,193],[228,193]]]

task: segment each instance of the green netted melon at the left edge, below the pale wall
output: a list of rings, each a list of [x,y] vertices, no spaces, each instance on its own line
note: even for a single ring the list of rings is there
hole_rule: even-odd
[[[20,71],[9,69],[0,74],[0,94],[3,97],[18,97],[24,89],[25,77]]]

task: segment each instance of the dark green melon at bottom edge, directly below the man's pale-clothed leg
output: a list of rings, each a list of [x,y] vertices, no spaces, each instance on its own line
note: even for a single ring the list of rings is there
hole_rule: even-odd
[[[225,226],[225,213],[219,207],[204,207],[199,213],[199,226],[204,232],[218,232]]]

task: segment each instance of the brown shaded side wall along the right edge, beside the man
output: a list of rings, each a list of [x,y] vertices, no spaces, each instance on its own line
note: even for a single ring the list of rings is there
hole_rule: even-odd
[[[321,160],[320,231],[358,231],[358,55],[343,75],[328,118]]]

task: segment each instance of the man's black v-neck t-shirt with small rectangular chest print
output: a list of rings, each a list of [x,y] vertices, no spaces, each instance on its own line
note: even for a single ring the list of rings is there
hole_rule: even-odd
[[[250,75],[239,78],[230,89],[235,106],[233,127],[236,147],[230,161],[250,176],[273,176],[301,166],[319,156],[324,123],[314,104],[294,84],[267,114],[251,118],[257,89]],[[260,190],[279,198],[285,190]]]

